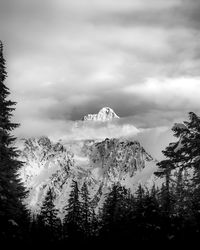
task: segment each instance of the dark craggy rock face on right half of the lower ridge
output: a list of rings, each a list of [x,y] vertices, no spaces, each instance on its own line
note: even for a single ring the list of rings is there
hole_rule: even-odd
[[[106,139],[94,143],[90,150],[90,164],[101,169],[109,182],[120,182],[125,175],[132,177],[145,167],[145,161],[153,160],[139,142],[126,139]]]

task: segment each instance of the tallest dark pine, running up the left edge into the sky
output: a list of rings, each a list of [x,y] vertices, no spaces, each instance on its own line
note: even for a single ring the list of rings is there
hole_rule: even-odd
[[[3,44],[0,41],[0,238],[3,239],[18,237],[16,232],[24,226],[22,221],[26,217],[22,205],[25,190],[17,175],[22,163],[17,160],[18,151],[13,146],[16,138],[11,134],[19,126],[11,121],[16,103],[7,99],[10,91],[5,85],[6,77]]]

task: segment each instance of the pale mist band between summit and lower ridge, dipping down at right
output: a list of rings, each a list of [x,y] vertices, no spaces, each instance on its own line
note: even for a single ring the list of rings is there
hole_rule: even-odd
[[[112,122],[73,122],[63,120],[27,119],[16,129],[19,138],[48,136],[54,141],[104,140],[106,138],[127,138],[138,140],[155,159],[164,158],[161,150],[176,139],[169,126],[137,129],[135,118],[127,117]]]

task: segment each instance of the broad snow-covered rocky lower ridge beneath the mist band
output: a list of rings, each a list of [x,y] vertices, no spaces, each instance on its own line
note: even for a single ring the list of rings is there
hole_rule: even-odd
[[[137,141],[105,139],[54,143],[47,137],[21,141],[20,157],[24,166],[19,176],[27,188],[27,206],[39,211],[49,187],[55,205],[63,215],[72,180],[79,188],[85,182],[96,208],[114,183],[130,188],[152,185],[156,161]]]

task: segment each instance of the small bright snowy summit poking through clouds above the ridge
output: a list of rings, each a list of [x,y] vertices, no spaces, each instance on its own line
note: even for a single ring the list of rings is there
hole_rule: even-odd
[[[104,107],[97,114],[88,114],[84,116],[82,120],[105,122],[116,118],[119,118],[119,116],[116,115],[113,109],[109,107]]]

